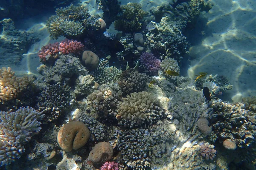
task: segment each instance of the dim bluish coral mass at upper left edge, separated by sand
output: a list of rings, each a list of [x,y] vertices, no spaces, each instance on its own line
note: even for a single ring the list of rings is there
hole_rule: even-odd
[[[2,65],[18,64],[31,45],[39,41],[38,35],[31,31],[19,31],[12,19],[0,21],[3,31],[0,34],[0,61]]]

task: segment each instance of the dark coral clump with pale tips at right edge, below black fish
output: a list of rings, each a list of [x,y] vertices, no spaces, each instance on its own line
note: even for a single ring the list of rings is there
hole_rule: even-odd
[[[244,104],[213,102],[212,132],[220,142],[229,139],[238,147],[249,147],[256,138],[255,113],[244,109]]]

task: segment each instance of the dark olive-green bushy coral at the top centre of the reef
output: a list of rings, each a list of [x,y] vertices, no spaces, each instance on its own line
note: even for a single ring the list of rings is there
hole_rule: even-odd
[[[147,12],[142,9],[139,3],[128,3],[121,6],[122,13],[119,20],[114,23],[115,29],[124,32],[139,31]]]

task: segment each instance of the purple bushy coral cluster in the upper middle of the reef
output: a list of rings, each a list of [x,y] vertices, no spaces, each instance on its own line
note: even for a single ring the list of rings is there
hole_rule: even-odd
[[[150,74],[156,74],[157,71],[160,70],[161,61],[152,53],[142,53],[140,56],[140,63],[147,71],[150,72]]]

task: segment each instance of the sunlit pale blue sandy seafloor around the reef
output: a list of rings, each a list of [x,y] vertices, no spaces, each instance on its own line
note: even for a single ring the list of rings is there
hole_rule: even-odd
[[[122,0],[122,4],[138,2],[138,0]],[[241,96],[256,95],[256,1],[255,0],[210,0],[214,4],[209,13],[201,14],[208,19],[207,27],[202,30],[200,24],[195,30],[200,39],[193,42],[193,36],[189,41],[195,45],[191,46],[191,67],[187,71],[190,78],[195,78],[195,73],[207,72],[207,74],[219,74],[227,77],[233,90],[229,91],[230,97],[236,100]],[[91,14],[102,14],[97,10],[95,0],[87,1],[87,7]],[[166,0],[142,1],[143,8],[149,9],[166,3]],[[85,3],[83,3],[85,4]],[[47,16],[48,17],[48,16]],[[46,16],[42,16],[42,23],[34,23],[33,20],[24,21],[24,25],[32,25],[34,31],[40,36],[41,41],[32,45],[28,54],[19,67],[10,66],[16,74],[31,72],[38,74],[36,68],[40,65],[37,53],[43,45],[51,40],[45,26]],[[38,19],[37,19],[38,20]],[[200,32],[199,32],[200,31]],[[64,39],[64,37],[59,40]]]

